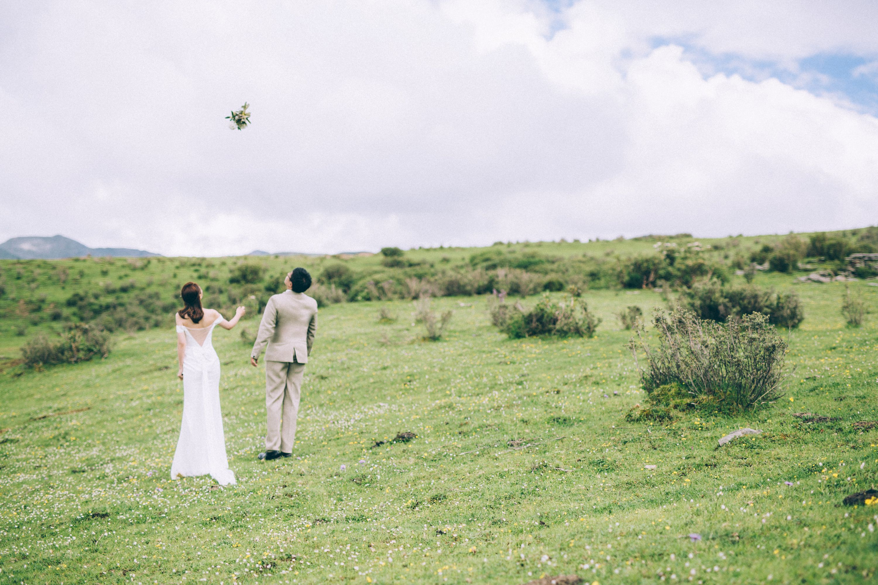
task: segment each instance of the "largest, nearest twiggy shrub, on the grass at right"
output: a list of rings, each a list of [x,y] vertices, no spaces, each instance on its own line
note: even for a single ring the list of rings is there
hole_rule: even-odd
[[[787,343],[760,313],[725,324],[677,309],[654,319],[659,346],[651,348],[637,330],[631,351],[647,394],[678,384],[694,403],[728,413],[757,408],[781,396]]]

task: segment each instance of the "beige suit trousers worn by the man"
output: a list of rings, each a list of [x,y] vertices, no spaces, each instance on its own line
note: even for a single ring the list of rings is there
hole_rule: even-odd
[[[292,453],[296,445],[296,417],[305,364],[265,361],[265,410],[268,429],[265,449]]]

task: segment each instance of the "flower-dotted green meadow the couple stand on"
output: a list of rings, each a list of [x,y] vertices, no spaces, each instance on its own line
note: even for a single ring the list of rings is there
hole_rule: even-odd
[[[69,262],[100,278],[100,262]],[[162,266],[137,278],[157,286],[170,278]],[[878,428],[853,426],[878,421],[878,328],[846,328],[843,283],[793,280],[757,276],[795,289],[805,308],[789,333],[782,403],[664,425],[624,419],[644,394],[615,312],[664,305],[650,290],[587,291],[603,318],[594,339],[509,340],[484,297],[434,300],[455,311],[438,342],[421,339],[411,302],[331,305],[295,457],[270,463],[255,459],[263,367],[248,365],[237,329],[219,331],[239,481],[227,488],[169,480],[183,400],[171,327],[118,332],[105,360],[43,371],[8,362],[0,583],[873,581],[878,506],[841,500],[878,474]],[[878,310],[878,291],[851,287]],[[379,323],[382,307],[397,320]],[[24,339],[0,336],[7,356]],[[741,426],[763,432],[716,448]],[[406,431],[417,438],[392,442]]]

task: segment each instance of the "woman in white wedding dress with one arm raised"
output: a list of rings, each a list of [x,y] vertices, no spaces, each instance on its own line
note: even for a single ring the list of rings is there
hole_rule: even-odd
[[[211,474],[220,485],[234,483],[228,468],[226,439],[219,410],[219,357],[213,350],[213,328],[231,329],[244,308],[234,311],[231,321],[219,311],[201,308],[201,287],[186,282],[180,291],[185,306],[176,313],[177,377],[183,380],[183,424],[176,442],[170,477]]]

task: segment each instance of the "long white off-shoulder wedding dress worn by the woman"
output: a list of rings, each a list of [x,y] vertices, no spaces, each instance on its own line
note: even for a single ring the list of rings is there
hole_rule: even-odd
[[[213,349],[213,329],[223,320],[220,316],[202,328],[177,325],[176,331],[186,334],[183,360],[183,424],[176,442],[170,477],[205,475],[220,485],[235,483],[234,472],[228,468],[226,439],[219,410],[219,356]]]

